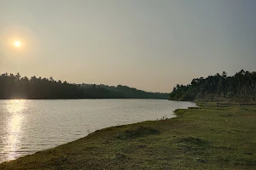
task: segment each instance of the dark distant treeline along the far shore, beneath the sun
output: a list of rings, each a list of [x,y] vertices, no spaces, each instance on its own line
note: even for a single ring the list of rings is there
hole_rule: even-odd
[[[72,84],[53,77],[0,75],[0,99],[167,99],[168,94],[148,93],[126,86]]]

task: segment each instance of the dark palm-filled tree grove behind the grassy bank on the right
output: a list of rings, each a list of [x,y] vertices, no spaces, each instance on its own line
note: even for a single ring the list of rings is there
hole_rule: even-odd
[[[256,101],[256,72],[239,71],[235,76],[222,74],[195,78],[188,85],[173,88],[169,99],[189,101]]]

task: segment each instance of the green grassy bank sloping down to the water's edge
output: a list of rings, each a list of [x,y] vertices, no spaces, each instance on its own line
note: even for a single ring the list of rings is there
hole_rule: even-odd
[[[0,169],[255,169],[256,106],[200,105],[169,120],[108,127]]]

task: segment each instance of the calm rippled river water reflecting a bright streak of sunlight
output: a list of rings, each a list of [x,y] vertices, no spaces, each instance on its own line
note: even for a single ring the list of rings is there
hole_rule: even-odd
[[[158,99],[0,100],[0,162],[82,138],[103,127],[175,116],[191,102]]]

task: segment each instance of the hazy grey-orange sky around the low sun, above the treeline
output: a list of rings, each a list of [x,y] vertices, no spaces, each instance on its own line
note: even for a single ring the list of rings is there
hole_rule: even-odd
[[[255,8],[255,0],[0,0],[0,73],[171,92],[195,77],[256,71]]]

